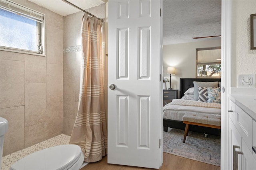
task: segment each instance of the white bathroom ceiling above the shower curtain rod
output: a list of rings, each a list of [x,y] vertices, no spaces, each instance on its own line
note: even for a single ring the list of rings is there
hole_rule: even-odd
[[[66,2],[63,2],[62,0],[29,0],[29,1],[34,2],[39,6],[43,6],[44,8],[47,8],[48,10],[51,10],[62,16],[67,16],[80,11],[77,8],[74,8],[68,5]],[[92,8],[95,6],[99,6],[100,4],[105,3],[102,0],[68,0],[68,2],[71,2],[72,4],[78,6],[79,8],[82,8],[83,10]]]

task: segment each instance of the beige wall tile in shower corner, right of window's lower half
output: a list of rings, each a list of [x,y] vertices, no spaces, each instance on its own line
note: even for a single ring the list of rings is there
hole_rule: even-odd
[[[47,34],[47,63],[63,63],[63,30],[48,26]]]

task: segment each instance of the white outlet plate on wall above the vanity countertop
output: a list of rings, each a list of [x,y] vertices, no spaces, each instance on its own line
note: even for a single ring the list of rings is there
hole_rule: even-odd
[[[238,87],[255,88],[255,74],[238,74]]]

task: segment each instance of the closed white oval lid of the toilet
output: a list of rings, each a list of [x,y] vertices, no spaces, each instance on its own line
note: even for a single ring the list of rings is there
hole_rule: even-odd
[[[78,161],[80,146],[65,144],[46,148],[30,154],[11,166],[11,170],[64,170]]]

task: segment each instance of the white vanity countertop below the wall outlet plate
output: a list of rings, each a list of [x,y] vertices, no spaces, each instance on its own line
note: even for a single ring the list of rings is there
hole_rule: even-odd
[[[241,93],[239,93],[239,92]],[[243,111],[245,111],[252,119],[256,120],[256,93],[255,89],[252,89],[251,93],[242,93],[240,89],[236,88],[231,90],[230,99],[238,105]]]

